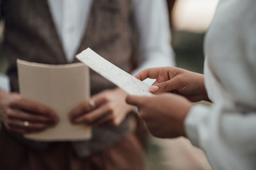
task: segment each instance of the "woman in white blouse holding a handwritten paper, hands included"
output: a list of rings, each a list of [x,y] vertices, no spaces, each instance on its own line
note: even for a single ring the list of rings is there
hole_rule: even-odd
[[[186,136],[212,169],[256,169],[256,1],[221,0],[205,38],[205,70],[146,69],[153,97],[128,96],[159,138]],[[205,83],[204,83],[205,81]],[[206,90],[205,90],[206,89]],[[212,101],[211,107],[195,101]]]

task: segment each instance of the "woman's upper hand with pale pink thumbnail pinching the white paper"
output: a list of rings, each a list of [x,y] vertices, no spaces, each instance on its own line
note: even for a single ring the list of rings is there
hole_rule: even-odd
[[[204,74],[177,67],[156,67],[141,71],[136,78],[141,81],[146,78],[156,79],[156,82],[149,88],[154,94],[173,92],[193,102],[210,101],[205,90]]]

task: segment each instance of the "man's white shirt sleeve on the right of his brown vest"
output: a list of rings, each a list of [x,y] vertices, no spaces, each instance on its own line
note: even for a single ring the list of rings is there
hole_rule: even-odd
[[[175,66],[166,1],[134,0],[133,5],[139,67],[132,74],[149,67]]]

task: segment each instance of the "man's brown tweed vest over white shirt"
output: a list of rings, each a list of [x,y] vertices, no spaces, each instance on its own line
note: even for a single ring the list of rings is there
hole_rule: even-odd
[[[131,1],[94,0],[77,53],[90,47],[116,66],[130,72]],[[5,19],[4,52],[8,59],[8,75],[12,91],[19,91],[17,59],[45,64],[67,64],[47,0],[5,0],[1,8]],[[90,76],[92,94],[115,87],[93,71]],[[88,156],[122,138],[127,133],[127,129],[125,122],[120,127],[109,130],[95,128],[92,141],[73,143],[74,148],[77,152],[81,152],[81,156]],[[109,139],[109,142],[106,142],[106,139]],[[44,146],[44,143],[21,140],[35,148]],[[102,145],[102,143],[106,144]]]

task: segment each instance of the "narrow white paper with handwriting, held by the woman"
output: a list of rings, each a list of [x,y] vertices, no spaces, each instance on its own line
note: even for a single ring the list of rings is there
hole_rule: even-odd
[[[116,67],[108,60],[93,52],[90,48],[79,53],[76,57],[104,78],[125,90],[128,94],[153,96],[153,94],[148,90],[148,85],[119,67]]]

